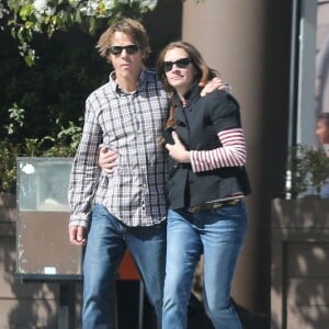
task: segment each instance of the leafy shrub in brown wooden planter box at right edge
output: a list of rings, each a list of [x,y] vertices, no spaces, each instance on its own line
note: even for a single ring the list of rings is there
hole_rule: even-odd
[[[271,215],[271,327],[309,324],[326,307],[328,290],[329,202],[320,189],[329,175],[325,151],[303,145],[288,149],[284,196],[272,201]],[[313,300],[318,300],[314,304]],[[324,322],[319,316],[313,328]],[[324,328],[324,327],[321,327]]]

